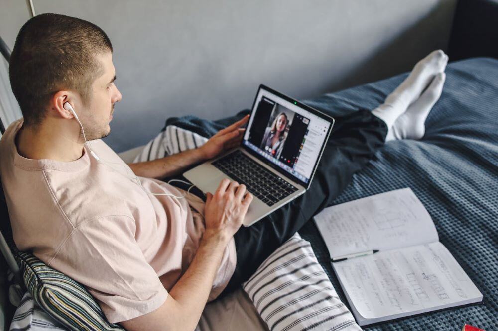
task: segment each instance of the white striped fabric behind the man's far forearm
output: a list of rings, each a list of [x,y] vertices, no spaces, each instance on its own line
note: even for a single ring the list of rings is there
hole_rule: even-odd
[[[149,141],[133,162],[151,161],[164,158],[167,155],[191,150],[208,141],[207,138],[195,132],[188,131],[175,125],[168,125],[154,139]]]

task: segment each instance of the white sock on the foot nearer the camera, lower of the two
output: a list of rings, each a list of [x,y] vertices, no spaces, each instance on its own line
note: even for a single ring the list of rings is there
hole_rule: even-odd
[[[392,139],[420,139],[425,134],[425,119],[434,104],[439,100],[443,91],[445,73],[439,73],[434,77],[431,84],[413,102],[406,112],[399,116],[392,126],[392,137],[386,137],[386,141]]]

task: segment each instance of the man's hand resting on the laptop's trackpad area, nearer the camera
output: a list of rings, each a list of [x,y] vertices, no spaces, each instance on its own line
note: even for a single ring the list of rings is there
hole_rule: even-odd
[[[253,197],[244,184],[223,179],[215,194],[207,193],[204,208],[206,234],[227,241],[239,230]]]

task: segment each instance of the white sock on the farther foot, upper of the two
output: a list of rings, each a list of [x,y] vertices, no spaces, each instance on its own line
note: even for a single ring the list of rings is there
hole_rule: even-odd
[[[387,96],[384,103],[372,111],[387,124],[387,140],[392,137],[392,126],[399,116],[417,100],[423,90],[431,83],[437,73],[443,72],[448,63],[448,56],[443,51],[431,52],[417,62],[410,75],[396,89]]]

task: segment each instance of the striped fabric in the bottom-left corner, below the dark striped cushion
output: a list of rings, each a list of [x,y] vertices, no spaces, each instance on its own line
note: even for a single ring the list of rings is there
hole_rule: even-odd
[[[50,315],[38,307],[29,292],[26,292],[15,311],[10,324],[10,331],[48,331],[67,330],[62,324],[57,323]]]

